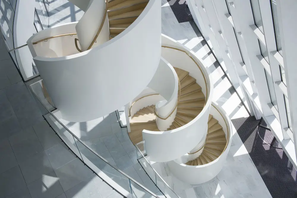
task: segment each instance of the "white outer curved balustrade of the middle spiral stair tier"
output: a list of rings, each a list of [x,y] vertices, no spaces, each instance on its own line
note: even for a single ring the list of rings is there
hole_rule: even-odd
[[[162,47],[162,57],[172,66],[184,69],[196,79],[206,98],[206,104],[200,114],[192,121],[177,129],[161,132],[143,130],[142,135],[146,143],[146,153],[151,161],[165,162],[183,156],[191,151],[205,137],[207,121],[213,94],[213,85],[201,61],[187,48],[175,40],[162,34],[162,45],[186,51],[199,66],[183,51]]]

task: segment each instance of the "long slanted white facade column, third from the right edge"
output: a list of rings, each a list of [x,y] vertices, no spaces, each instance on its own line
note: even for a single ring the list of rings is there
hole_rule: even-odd
[[[240,28],[244,37],[252,72],[254,74],[254,81],[261,104],[261,107],[259,108],[261,108],[262,113],[265,116],[272,115],[272,112],[268,106],[268,103],[270,103],[271,100],[269,97],[264,69],[261,65],[261,62],[257,58],[258,55],[261,55],[258,38],[250,28],[250,25],[255,24],[250,1],[236,0],[234,4],[236,9],[238,9],[238,17],[241,18]]]

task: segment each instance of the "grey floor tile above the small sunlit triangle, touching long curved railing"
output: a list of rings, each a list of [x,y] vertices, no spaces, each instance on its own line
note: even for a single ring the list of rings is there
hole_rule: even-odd
[[[76,157],[70,150],[68,150],[64,143],[57,144],[45,151],[45,153],[48,156],[48,160],[50,161],[53,169],[57,169],[67,164]]]

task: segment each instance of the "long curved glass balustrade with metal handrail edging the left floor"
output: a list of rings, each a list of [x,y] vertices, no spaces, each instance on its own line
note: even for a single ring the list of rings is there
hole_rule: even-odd
[[[40,80],[41,81],[41,80]],[[34,98],[41,105],[41,112],[45,120],[50,124],[61,140],[71,149],[73,153],[86,164],[99,178],[112,187],[123,197],[134,198],[149,195],[150,197],[159,198],[152,191],[138,183],[129,175],[114,167],[106,159],[91,149],[85,142],[73,134],[61,121],[40,101],[31,85],[28,85]]]

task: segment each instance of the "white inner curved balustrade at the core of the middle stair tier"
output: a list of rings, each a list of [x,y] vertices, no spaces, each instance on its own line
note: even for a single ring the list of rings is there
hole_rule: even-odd
[[[158,101],[155,105],[156,113],[161,117],[156,116],[158,129],[165,131],[170,127],[176,115],[178,76],[173,67],[164,58],[161,57],[158,69],[148,87],[164,97],[164,100]],[[173,110],[174,112],[170,115]]]

